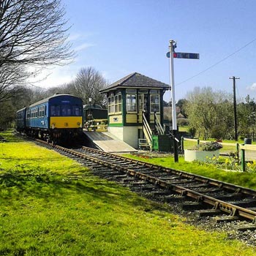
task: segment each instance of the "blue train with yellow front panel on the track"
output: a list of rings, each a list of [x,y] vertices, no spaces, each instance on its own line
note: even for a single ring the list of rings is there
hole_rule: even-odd
[[[83,101],[70,94],[54,94],[16,113],[16,129],[54,143],[72,140],[83,132]]]

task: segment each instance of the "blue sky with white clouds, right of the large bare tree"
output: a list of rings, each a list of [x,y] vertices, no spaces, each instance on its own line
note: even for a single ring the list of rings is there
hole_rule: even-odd
[[[199,53],[200,59],[174,59],[176,100],[195,87],[247,94],[256,99],[255,0],[62,0],[69,41],[76,57],[64,67],[50,68],[35,83],[42,88],[75,79],[94,67],[109,83],[139,72],[170,84],[166,53]],[[170,101],[170,91],[165,92]]]

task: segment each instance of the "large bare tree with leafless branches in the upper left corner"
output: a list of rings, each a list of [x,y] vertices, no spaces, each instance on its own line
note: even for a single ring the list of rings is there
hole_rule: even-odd
[[[27,67],[72,59],[64,15],[61,0],[0,1],[0,101],[34,75]]]

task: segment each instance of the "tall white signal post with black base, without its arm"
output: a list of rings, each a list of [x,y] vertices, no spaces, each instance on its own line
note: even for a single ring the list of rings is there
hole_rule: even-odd
[[[175,100],[175,86],[174,86],[174,67],[173,67],[173,52],[176,48],[174,40],[169,41],[170,52],[170,89],[172,98],[172,118],[173,118],[173,149],[174,149],[174,162],[178,162],[178,143],[177,143],[177,118],[176,118],[176,100]]]

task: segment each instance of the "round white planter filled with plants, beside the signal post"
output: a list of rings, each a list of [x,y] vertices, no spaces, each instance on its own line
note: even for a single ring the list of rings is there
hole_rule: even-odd
[[[185,149],[184,159],[187,162],[195,160],[204,162],[207,158],[219,157],[219,148],[222,148],[222,145],[216,141],[200,143],[192,149]]]

